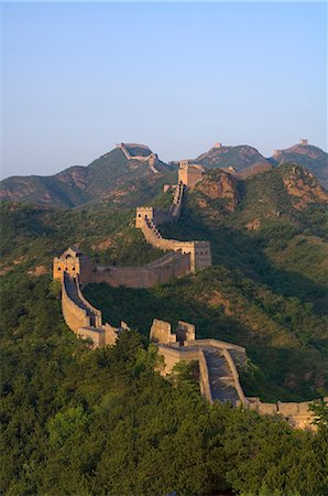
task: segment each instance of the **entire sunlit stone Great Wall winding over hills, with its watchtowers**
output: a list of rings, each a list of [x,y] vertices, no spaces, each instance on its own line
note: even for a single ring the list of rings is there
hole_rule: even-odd
[[[129,160],[146,161],[153,155],[131,155],[127,147],[123,143],[118,145]],[[135,227],[142,230],[145,240],[152,246],[168,251],[164,257],[142,267],[101,267],[92,265],[78,249],[68,248],[54,258],[53,278],[61,280],[64,320],[75,334],[89,341],[90,347],[114,345],[118,336],[129,325],[123,321],[119,327],[103,323],[101,312],[84,298],[84,285],[106,282],[112,287],[152,288],[211,266],[209,241],[165,239],[157,227],[179,218],[185,190],[197,184],[204,172],[201,165],[182,161],[170,209],[161,211],[150,206],[136,208]],[[247,363],[245,348],[242,346],[214,338],[197,339],[195,326],[183,321],[172,332],[170,323],[156,319],[150,330],[150,339],[156,344],[158,355],[163,357],[162,375],[171,374],[179,362],[198,364],[200,392],[209,403],[229,401],[260,414],[281,414],[294,428],[315,430],[311,424],[314,414],[309,409],[311,401],[265,403],[260,398],[244,396],[238,373],[238,368]]]

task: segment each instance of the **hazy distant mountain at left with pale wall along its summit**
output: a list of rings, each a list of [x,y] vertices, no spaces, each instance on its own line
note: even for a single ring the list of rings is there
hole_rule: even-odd
[[[147,194],[156,192],[173,170],[147,147],[129,144],[113,149],[88,166],[75,165],[52,176],[8,177],[0,183],[0,198],[55,207],[122,201],[134,206],[143,196],[146,200]]]

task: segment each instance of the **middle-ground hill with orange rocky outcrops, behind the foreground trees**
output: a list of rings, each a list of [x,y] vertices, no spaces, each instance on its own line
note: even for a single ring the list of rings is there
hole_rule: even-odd
[[[306,188],[310,193],[302,193],[299,204],[298,192]],[[162,193],[152,203],[165,204],[170,196]],[[328,371],[326,202],[325,190],[299,165],[283,164],[245,181],[210,170],[187,192],[181,219],[162,230],[175,239],[210,240],[215,267],[158,290],[99,285],[87,290],[88,298],[109,322],[127,315],[144,334],[151,317],[183,319],[195,322],[199,335],[247,346],[263,374],[262,382],[251,382],[251,393],[315,398]],[[3,204],[1,272],[48,273],[53,256],[77,244],[98,263],[154,260],[161,254],[133,228],[133,211],[109,207]],[[308,379],[292,380],[295,370]]]

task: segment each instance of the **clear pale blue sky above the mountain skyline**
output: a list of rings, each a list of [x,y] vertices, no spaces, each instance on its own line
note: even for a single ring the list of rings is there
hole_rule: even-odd
[[[325,3],[2,3],[1,176],[216,141],[327,150]]]

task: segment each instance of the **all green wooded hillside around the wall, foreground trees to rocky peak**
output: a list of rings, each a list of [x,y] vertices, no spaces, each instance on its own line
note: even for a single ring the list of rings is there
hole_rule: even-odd
[[[171,193],[147,192],[154,205]],[[160,190],[158,190],[160,191]],[[186,193],[175,239],[211,242],[214,266],[151,290],[90,284],[87,298],[133,331],[90,351],[65,325],[54,256],[69,245],[98,263],[162,255],[133,227],[128,203],[92,209],[1,205],[1,468],[3,494],[328,493],[327,410],[318,434],[275,418],[206,405],[192,367],[154,367],[154,317],[197,337],[245,346],[248,396],[327,396],[327,193],[284,164],[240,181],[218,169]]]

